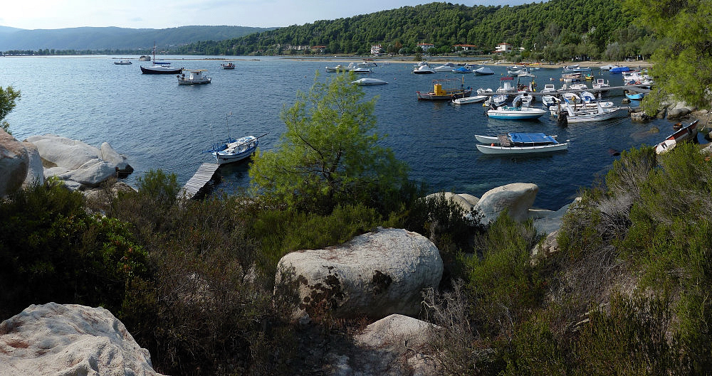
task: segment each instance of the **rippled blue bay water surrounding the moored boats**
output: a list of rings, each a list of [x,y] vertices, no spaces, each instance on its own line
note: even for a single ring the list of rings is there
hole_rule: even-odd
[[[235,57],[236,69],[222,70],[222,60],[165,57],[173,65],[209,70],[212,83],[192,87],[179,86],[174,75],[142,75],[139,65],[147,63],[133,60],[133,65],[114,65],[110,58],[0,58],[0,86],[21,91],[16,108],[6,117],[17,139],[52,133],[94,146],[108,141],[135,168],[127,178],[130,184],[157,168],[175,173],[179,183],[185,183],[200,163],[214,161],[201,151],[227,134],[269,132],[261,147],[270,149],[285,130],[279,118],[283,106],[293,104],[298,90],[309,90],[317,70],[323,80],[333,74],[325,73],[325,66],[337,64]],[[493,70],[495,75],[464,75],[465,85],[496,89],[506,68]],[[409,164],[411,178],[425,181],[434,192],[479,197],[508,183],[536,183],[540,190],[534,205],[557,209],[570,203],[580,187],[592,185],[606,173],[617,158],[609,149],[656,144],[673,132],[673,123],[666,120],[639,124],[613,119],[562,128],[548,117],[534,122],[488,119],[481,104],[454,107],[417,100],[415,91],[432,90],[432,80],[461,75],[411,72],[412,63],[379,66],[368,77],[389,85],[363,90],[367,97],[379,96],[375,114],[378,131],[387,134],[383,145]],[[535,74],[539,88],[545,83],[562,84],[560,69]],[[610,80],[612,86],[622,84],[620,75],[604,72],[597,77]],[[612,92],[607,100],[619,103],[622,98],[622,92]],[[474,134],[505,131],[557,134],[560,141],[570,140],[570,146],[556,154],[515,158],[477,151]],[[216,188],[233,193],[247,186],[247,169],[247,163],[221,168],[223,181]]]

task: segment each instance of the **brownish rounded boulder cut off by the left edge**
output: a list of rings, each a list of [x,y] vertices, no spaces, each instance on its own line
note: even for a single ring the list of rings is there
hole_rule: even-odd
[[[27,177],[28,166],[25,146],[0,129],[0,196],[21,188]]]

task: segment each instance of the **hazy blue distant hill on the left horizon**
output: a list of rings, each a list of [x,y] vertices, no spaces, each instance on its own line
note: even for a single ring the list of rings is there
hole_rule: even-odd
[[[0,51],[7,50],[140,50],[175,47],[197,41],[222,41],[274,28],[182,26],[179,28],[58,28],[26,30],[0,26]]]

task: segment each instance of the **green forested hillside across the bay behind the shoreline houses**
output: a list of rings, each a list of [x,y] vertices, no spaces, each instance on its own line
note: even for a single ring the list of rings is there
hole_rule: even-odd
[[[371,44],[380,43],[386,52],[405,48],[400,52],[408,53],[418,43],[433,43],[434,53],[449,53],[456,44],[477,45],[487,53],[507,42],[527,50],[582,45],[582,52],[594,55],[606,50],[614,32],[628,28],[631,21],[632,15],[612,0],[551,0],[522,6],[431,3],[197,43],[179,52],[244,55],[260,50],[284,53],[290,45],[325,45],[326,53],[366,54]]]

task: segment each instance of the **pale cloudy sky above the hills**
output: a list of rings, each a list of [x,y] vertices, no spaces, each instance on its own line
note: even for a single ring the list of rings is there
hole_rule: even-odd
[[[520,5],[532,0],[463,0],[452,4]],[[369,14],[417,0],[33,0],[3,1],[0,26],[25,29],[192,25],[281,27]]]

